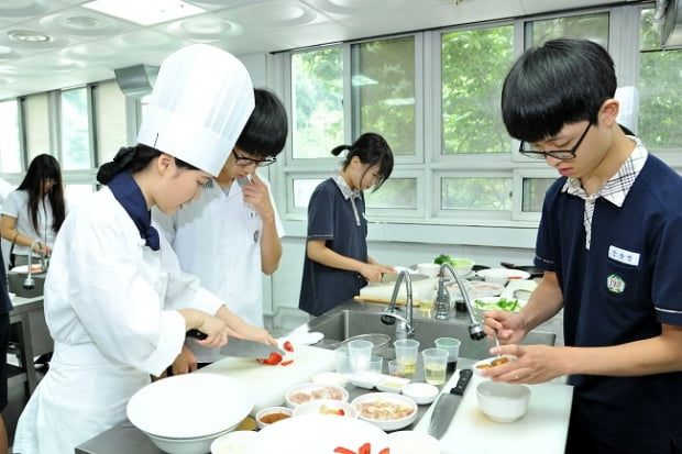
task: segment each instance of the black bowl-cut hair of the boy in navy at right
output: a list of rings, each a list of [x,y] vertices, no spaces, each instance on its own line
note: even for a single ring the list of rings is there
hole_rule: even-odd
[[[604,47],[587,40],[552,40],[514,64],[502,89],[502,115],[509,135],[540,142],[568,123],[596,124],[616,88],[614,60]]]

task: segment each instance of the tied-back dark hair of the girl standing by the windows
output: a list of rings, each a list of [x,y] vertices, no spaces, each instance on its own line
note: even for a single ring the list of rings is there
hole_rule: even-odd
[[[343,169],[351,164],[353,156],[358,156],[362,164],[370,167],[378,164],[378,177],[374,185],[374,191],[382,187],[393,171],[393,152],[388,143],[380,134],[366,132],[362,134],[352,145],[339,145],[331,151],[331,154],[339,156],[341,152],[348,150],[345,159],[342,163]],[[367,167],[367,170],[370,168]],[[365,170],[365,173],[367,171]]]

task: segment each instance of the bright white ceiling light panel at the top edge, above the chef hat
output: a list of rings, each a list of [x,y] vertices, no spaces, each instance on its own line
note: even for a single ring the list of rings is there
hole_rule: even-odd
[[[141,25],[154,25],[206,12],[180,0],[95,0],[81,7]]]

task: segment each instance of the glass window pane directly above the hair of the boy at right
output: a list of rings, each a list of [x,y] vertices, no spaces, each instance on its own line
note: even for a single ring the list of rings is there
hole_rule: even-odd
[[[557,37],[579,37],[608,48],[607,12],[534,21],[531,30],[534,46]]]

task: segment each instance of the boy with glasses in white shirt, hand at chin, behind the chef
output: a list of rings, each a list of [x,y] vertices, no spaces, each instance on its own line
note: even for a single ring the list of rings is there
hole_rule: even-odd
[[[254,98],[254,110],[233,152],[199,200],[173,215],[154,208],[152,218],[184,272],[197,275],[232,312],[263,326],[263,274],[273,274],[279,265],[284,228],[270,182],[256,168],[276,160],[288,126],[286,110],[274,93],[258,88]],[[240,178],[250,181],[242,186]],[[195,342],[187,346],[194,357],[174,364],[176,374],[220,358],[219,348]]]

